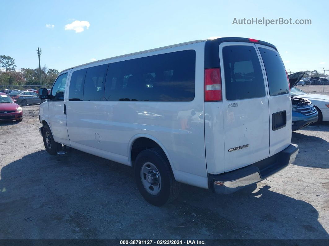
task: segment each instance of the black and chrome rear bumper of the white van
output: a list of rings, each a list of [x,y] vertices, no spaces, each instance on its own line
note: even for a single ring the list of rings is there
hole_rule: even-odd
[[[244,168],[208,174],[208,187],[215,193],[230,194],[244,186],[258,183],[293,163],[298,149],[298,145],[291,144],[279,153]]]

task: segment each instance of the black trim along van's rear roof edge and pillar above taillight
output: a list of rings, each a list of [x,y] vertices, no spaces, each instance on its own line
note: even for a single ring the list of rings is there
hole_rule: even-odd
[[[249,38],[245,38],[245,37],[220,37],[214,40],[207,40],[205,44],[205,69],[220,67],[219,59],[218,59],[219,57],[218,46],[223,42],[244,42],[244,43],[262,44],[277,50],[277,48],[273,44],[261,40],[259,40],[258,42],[251,42],[249,41]]]

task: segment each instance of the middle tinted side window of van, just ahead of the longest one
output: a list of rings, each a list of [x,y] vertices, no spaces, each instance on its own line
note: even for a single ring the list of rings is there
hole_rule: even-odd
[[[103,101],[105,77],[109,64],[89,67],[85,78],[83,101]]]

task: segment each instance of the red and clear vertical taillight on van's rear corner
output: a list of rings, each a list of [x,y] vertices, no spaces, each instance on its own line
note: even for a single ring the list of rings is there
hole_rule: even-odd
[[[205,69],[205,101],[222,101],[222,81],[219,68]]]

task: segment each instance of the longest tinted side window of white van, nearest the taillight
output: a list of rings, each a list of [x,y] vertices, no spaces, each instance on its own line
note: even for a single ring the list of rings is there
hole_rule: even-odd
[[[192,101],[195,51],[185,50],[109,64],[106,101]]]

